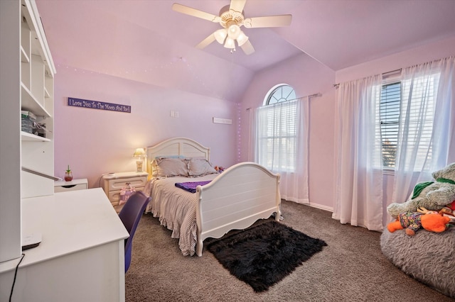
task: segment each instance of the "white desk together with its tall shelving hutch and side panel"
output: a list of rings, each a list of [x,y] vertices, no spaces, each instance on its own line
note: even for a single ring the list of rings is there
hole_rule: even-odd
[[[104,192],[85,179],[54,194],[52,179],[21,171],[54,173],[55,66],[34,0],[0,0],[0,40],[0,301],[13,279],[12,301],[124,301],[128,232]],[[45,138],[21,130],[21,111]],[[42,241],[18,265],[34,233]]]

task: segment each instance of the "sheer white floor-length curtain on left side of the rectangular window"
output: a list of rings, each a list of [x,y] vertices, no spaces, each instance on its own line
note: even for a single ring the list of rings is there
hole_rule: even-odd
[[[336,203],[333,218],[382,230],[382,165],[377,111],[382,77],[341,84],[337,90]]]

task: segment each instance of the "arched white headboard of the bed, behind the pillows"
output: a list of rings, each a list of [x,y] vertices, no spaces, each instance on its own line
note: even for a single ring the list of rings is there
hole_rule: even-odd
[[[210,160],[210,148],[200,145],[191,138],[169,138],[154,146],[147,147],[147,172],[151,174],[151,162],[156,157],[204,157]]]

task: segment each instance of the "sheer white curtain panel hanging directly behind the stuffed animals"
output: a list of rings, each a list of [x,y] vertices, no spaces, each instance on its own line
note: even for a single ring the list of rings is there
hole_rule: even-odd
[[[454,160],[455,57],[402,70],[401,123],[392,202],[407,201],[415,184]]]

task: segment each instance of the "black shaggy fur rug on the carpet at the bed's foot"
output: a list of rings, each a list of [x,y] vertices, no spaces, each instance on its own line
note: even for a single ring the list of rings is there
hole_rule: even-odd
[[[257,292],[282,280],[326,242],[274,220],[230,232],[206,245],[218,261]]]

